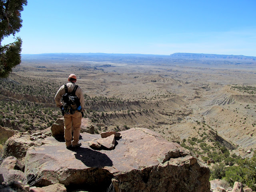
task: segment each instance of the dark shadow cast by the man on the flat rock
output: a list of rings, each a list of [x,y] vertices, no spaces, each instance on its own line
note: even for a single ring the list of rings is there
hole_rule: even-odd
[[[88,167],[102,168],[104,166],[113,166],[112,160],[106,154],[99,151],[82,147],[71,150],[76,152],[76,159],[82,161]]]

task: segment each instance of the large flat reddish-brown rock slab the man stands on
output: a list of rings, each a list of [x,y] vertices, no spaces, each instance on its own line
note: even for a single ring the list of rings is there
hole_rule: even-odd
[[[68,150],[53,137],[30,148],[25,173],[37,169],[41,186],[61,183],[67,188],[106,191],[113,182],[122,192],[209,192],[210,171],[179,144],[144,128],[120,132],[114,150],[94,150],[88,143],[100,135],[81,133],[82,146]]]

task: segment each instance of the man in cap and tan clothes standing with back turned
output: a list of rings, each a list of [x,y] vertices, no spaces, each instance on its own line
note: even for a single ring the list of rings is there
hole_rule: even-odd
[[[68,77],[68,83],[66,84],[66,88],[68,89],[68,93],[72,93],[74,88],[76,87],[76,75],[70,74]],[[78,86],[75,90],[75,95],[79,98],[80,107],[74,111],[74,114],[69,112],[65,112],[63,108],[63,104],[60,102],[62,99],[62,95],[66,93],[65,85],[62,85],[55,95],[55,102],[58,107],[62,110],[62,114],[64,115],[64,138],[66,141],[66,147],[80,147],[82,144],[79,142],[80,129],[82,123],[82,116],[84,111],[84,94],[80,86]],[[73,142],[72,142],[72,126],[74,128],[73,132]]]

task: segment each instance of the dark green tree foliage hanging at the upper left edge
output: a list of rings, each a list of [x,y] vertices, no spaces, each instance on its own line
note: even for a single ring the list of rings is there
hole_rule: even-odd
[[[7,77],[12,68],[20,64],[20,52],[22,40],[18,37],[16,41],[2,46],[4,37],[14,36],[22,27],[20,12],[27,0],[0,0],[0,77]]]

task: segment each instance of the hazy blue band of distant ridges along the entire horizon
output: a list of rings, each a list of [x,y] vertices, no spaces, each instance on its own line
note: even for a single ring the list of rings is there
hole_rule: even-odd
[[[97,67],[112,67],[108,65],[124,63],[127,65],[189,65],[189,66],[236,66],[256,69],[256,57],[243,55],[217,55],[217,54],[196,54],[196,53],[174,53],[171,55],[150,55],[150,54],[106,54],[106,53],[49,53],[49,54],[22,54],[22,62],[44,62],[45,64],[62,63],[80,64],[86,61],[100,62]],[[90,63],[91,64],[91,63]],[[41,67],[41,66],[39,66]],[[91,66],[92,67],[92,66]],[[96,66],[93,66],[96,67]]]

